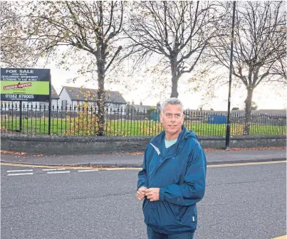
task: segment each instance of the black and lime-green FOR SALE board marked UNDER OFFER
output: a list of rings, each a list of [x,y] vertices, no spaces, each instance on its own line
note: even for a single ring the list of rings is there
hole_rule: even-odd
[[[1,68],[1,100],[49,101],[50,69]]]

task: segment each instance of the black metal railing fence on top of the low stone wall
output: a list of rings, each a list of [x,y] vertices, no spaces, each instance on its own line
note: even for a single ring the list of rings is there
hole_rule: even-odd
[[[1,132],[97,136],[96,107],[42,107],[1,103]],[[50,115],[50,117],[49,117]],[[184,125],[199,136],[224,136],[226,114],[185,111]],[[251,114],[250,135],[286,135],[286,115]],[[231,112],[231,135],[243,135],[245,114]],[[49,124],[50,121],[50,124]],[[158,110],[105,110],[106,136],[154,136],[162,131]]]

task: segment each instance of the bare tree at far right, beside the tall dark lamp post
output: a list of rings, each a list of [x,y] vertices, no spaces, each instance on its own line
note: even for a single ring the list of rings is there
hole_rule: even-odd
[[[210,56],[215,65],[229,68],[232,11],[229,2],[225,7],[226,28],[221,31],[226,37],[214,38]],[[286,76],[272,77],[276,65],[283,67],[280,60],[286,58],[285,9],[283,1],[242,1],[236,6],[232,74],[247,90],[244,134],[249,134],[254,89],[263,83],[286,83]]]

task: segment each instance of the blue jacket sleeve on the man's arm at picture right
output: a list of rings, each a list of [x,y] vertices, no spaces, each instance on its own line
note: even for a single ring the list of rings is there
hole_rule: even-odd
[[[160,201],[168,201],[179,206],[189,206],[199,202],[204,197],[207,159],[199,143],[192,149],[189,156],[183,183],[160,188]]]

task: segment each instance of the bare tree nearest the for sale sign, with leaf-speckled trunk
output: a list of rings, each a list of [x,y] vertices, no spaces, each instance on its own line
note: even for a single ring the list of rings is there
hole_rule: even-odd
[[[68,48],[65,57],[87,62],[98,76],[98,135],[104,132],[105,76],[112,69],[122,46],[124,2],[122,1],[38,1],[28,14],[28,42],[43,55],[51,57],[56,49]],[[68,54],[67,54],[68,53]],[[70,55],[69,55],[70,54]],[[63,58],[65,63],[66,58]]]

